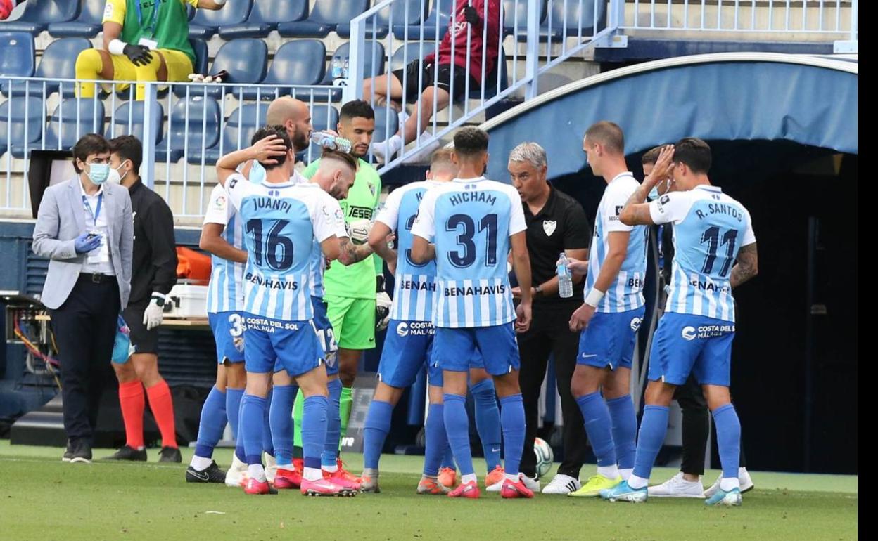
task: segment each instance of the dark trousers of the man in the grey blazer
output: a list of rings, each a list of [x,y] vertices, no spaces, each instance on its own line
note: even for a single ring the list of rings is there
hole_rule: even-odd
[[[81,275],[57,310],[52,328],[61,362],[64,431],[71,442],[91,444],[97,406],[110,374],[112,345],[119,316],[119,285],[105,277],[100,283]]]

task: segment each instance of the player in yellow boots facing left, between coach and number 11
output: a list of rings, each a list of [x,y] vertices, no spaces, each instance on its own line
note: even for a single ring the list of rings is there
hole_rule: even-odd
[[[587,274],[585,303],[573,312],[570,330],[579,335],[571,391],[586,425],[598,470],[568,494],[589,497],[627,479],[634,467],[637,416],[631,400],[631,360],[644,317],[646,227],[619,221],[619,212],[639,184],[625,165],[622,129],[601,121],[588,128],[582,149],[596,175],[607,182],[594,218],[587,262],[571,268]]]

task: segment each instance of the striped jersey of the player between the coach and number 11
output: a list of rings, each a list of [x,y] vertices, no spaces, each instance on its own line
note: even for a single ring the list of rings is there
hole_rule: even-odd
[[[604,189],[597,216],[594,217],[594,238],[588,253],[588,274],[584,295],[588,295],[601,274],[604,260],[609,252],[609,234],[615,231],[630,232],[625,260],[619,274],[605,292],[598,312],[627,312],[644,305],[644,281],[646,279],[646,239],[649,228],[645,225],[625,225],[619,215],[628,199],[640,184],[629,172],[621,173]]]

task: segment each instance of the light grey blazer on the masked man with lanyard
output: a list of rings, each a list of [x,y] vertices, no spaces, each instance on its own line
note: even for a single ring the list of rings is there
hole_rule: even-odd
[[[33,253],[50,260],[40,300],[52,310],[67,300],[86,259],[85,253],[76,253],[74,249],[74,239],[88,231],[79,182],[79,177],[75,177],[47,188],[33,228]],[[103,207],[110,233],[110,238],[104,242],[110,243],[110,259],[119,281],[119,299],[125,308],[131,294],[134,244],[134,220],[128,189],[119,184],[104,184]]]

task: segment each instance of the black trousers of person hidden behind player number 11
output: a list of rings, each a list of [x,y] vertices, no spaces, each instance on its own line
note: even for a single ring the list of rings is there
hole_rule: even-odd
[[[673,392],[673,397],[680,404],[683,413],[682,440],[683,458],[680,464],[680,472],[692,475],[704,474],[704,453],[707,452],[708,438],[710,438],[710,412],[708,402],[704,399],[702,386],[695,381],[694,376],[689,376],[686,383],[680,385]],[[741,467],[746,467],[744,457],[744,435],[741,435]]]

